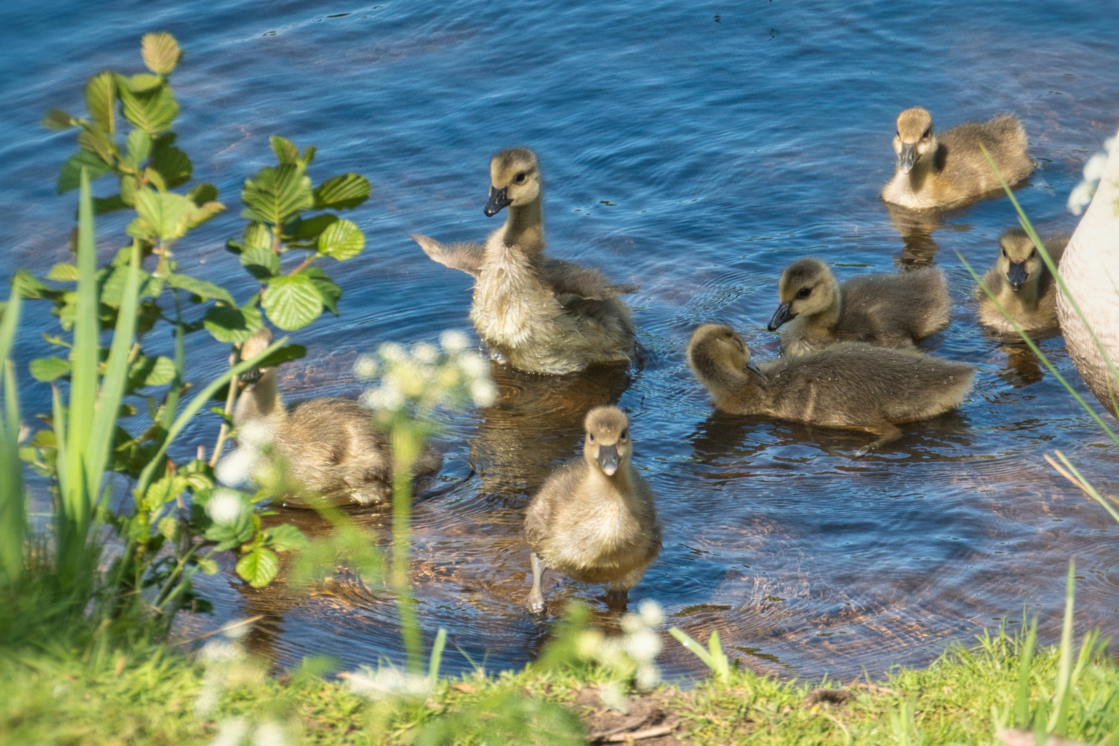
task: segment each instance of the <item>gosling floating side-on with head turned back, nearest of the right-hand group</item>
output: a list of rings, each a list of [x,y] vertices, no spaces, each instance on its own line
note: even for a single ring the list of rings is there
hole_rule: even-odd
[[[959,406],[975,377],[971,366],[863,342],[755,366],[742,337],[723,324],[695,330],[688,365],[716,409],[878,435],[861,454],[900,437],[899,423]]]

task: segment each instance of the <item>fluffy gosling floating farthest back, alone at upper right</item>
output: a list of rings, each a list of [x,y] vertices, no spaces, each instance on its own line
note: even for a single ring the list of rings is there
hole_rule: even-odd
[[[942,132],[932,130],[932,115],[920,106],[897,115],[894,178],[882,189],[887,202],[927,209],[958,207],[980,199],[1000,185],[987,157],[987,148],[1007,183],[1017,183],[1033,173],[1034,161],[1026,153],[1026,131],[1013,114],[989,122],[965,122]]]

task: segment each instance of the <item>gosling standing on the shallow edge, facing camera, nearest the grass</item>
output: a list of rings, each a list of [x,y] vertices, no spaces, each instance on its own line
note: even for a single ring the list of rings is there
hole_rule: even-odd
[[[649,483],[630,464],[629,419],[618,407],[586,414],[583,457],[555,471],[525,514],[533,548],[528,608],[543,611],[545,567],[580,583],[609,583],[624,602],[660,554],[660,523]]]

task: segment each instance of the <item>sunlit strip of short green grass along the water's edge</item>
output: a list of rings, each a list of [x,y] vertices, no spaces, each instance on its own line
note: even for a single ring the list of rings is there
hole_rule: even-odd
[[[1052,701],[1060,646],[1036,649],[1023,668],[1025,649],[1022,639],[999,632],[949,650],[928,668],[846,687],[824,682],[824,691],[732,669],[725,680],[631,692],[622,715],[599,697],[617,677],[593,665],[542,662],[519,673],[442,678],[430,696],[410,702],[358,693],[360,674],[339,679],[321,662],[269,676],[241,658],[232,641],[198,655],[158,645],[93,645],[81,657],[0,659],[0,742],[570,744],[623,726],[617,740],[670,729],[638,742],[650,745],[989,744],[1000,727],[1016,723],[1023,705],[1044,719]],[[1066,735],[1119,744],[1119,667],[1106,654],[1080,663]]]

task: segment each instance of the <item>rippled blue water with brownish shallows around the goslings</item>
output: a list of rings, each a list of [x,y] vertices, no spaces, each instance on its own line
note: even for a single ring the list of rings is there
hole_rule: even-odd
[[[577,453],[583,413],[606,402],[632,417],[636,463],[665,523],[664,553],[631,598],[658,599],[704,639],[717,627],[760,668],[815,677],[922,663],[1006,615],[1017,623],[1024,606],[1052,638],[1071,556],[1078,623],[1115,636],[1119,527],[1042,454],[1063,450],[1106,492],[1119,457],[1037,360],[980,331],[957,255],[994,261],[998,234],[1015,224],[1008,200],[895,224],[877,197],[901,108],[922,104],[942,129],[1013,111],[1040,161],[1018,198],[1043,232],[1071,230],[1065,197],[1119,120],[1119,12],[1109,6],[19,3],[0,32],[0,274],[66,258],[75,198],[56,197],[54,177],[73,134],[37,121],[49,106],[81,110],[96,69],[138,72],[148,30],[172,31],[187,50],[173,76],[179,142],[196,178],[216,182],[233,208],[180,245],[186,267],[238,298],[253,291],[222,244],[239,232],[242,180],[272,159],[270,134],[319,145],[316,179],[356,170],[374,183],[354,214],[366,252],[328,267],[345,290],[341,315],[295,332],[309,353],[284,371],[290,399],[356,394],[350,366],[382,341],[469,328],[470,277],[405,234],[483,236],[496,225],[481,210],[489,155],[530,145],[547,180],[552,253],[640,285],[629,298],[648,355],[642,369],[612,377],[498,370],[499,405],[450,421],[449,489],[417,503],[414,550],[425,634],[446,626],[450,650],[462,651],[450,665],[466,668],[469,655],[515,667],[538,649],[545,625],[521,605],[524,508]],[[104,255],[122,228],[119,217],[100,221]],[[690,330],[725,321],[755,353],[774,353],[764,324],[775,281],[806,255],[840,276],[930,257],[943,267],[953,320],[927,347],[979,368],[958,413],[905,426],[863,459],[852,455],[866,441],[857,433],[712,413],[685,367]],[[20,366],[47,353],[39,333],[55,329],[43,306],[29,317]],[[1062,341],[1043,348],[1088,397]],[[201,381],[225,351],[196,334],[188,359]],[[45,385],[26,385],[25,397],[28,410],[48,410]],[[179,455],[213,443],[216,426],[198,418]],[[356,517],[387,526],[380,512]],[[281,520],[321,530],[308,513]],[[310,596],[251,591],[229,575],[200,589],[216,605],[206,626],[264,614],[256,644],[282,664],[399,653],[392,599],[342,570]],[[548,595],[552,617],[580,597],[617,623],[602,588],[557,578]],[[697,670],[675,645],[665,661],[677,674]]]

